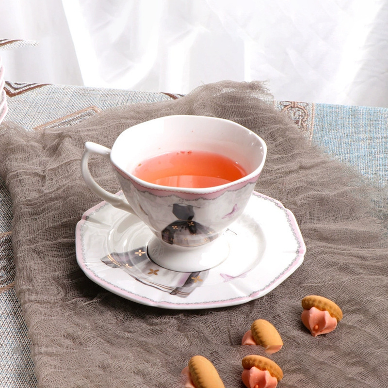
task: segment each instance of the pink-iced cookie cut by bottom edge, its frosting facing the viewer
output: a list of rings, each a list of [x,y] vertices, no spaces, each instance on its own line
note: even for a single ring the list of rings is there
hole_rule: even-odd
[[[279,365],[263,356],[246,356],[242,359],[242,382],[247,388],[275,388],[283,378]]]

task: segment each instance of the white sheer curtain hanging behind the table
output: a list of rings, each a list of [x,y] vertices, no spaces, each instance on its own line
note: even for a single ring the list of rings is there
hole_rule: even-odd
[[[268,80],[276,99],[388,107],[388,0],[8,3],[31,5],[13,14],[24,35],[4,37],[44,46],[15,81],[43,81],[42,66],[45,82],[181,94]]]

